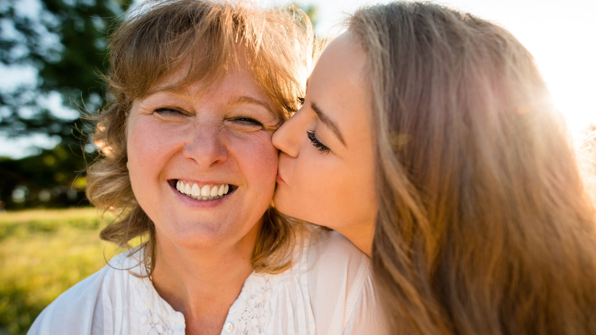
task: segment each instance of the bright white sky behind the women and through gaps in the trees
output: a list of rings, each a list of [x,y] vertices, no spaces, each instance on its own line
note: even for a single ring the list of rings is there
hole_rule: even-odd
[[[267,6],[290,1],[257,2]],[[304,1],[317,5],[316,30],[322,36],[338,32],[333,27],[345,17],[344,13],[378,2],[389,1]],[[534,55],[553,101],[566,117],[572,134],[591,123],[596,124],[593,99],[596,97],[596,0],[568,3],[554,0],[451,0],[439,3],[469,11],[510,30]],[[2,69],[0,73],[4,73]],[[60,98],[54,97],[53,102],[53,105],[59,105]],[[53,143],[43,137],[30,141],[0,138],[0,156],[22,157],[26,154],[24,148],[32,142],[46,147],[52,147]]]

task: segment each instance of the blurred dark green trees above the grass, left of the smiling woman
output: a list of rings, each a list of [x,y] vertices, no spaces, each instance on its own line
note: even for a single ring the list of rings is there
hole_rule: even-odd
[[[0,67],[36,73],[33,82],[0,88],[0,135],[44,134],[58,141],[32,157],[0,160],[0,208],[82,200],[76,183],[84,179],[76,177],[91,151],[85,150],[91,125],[79,119],[77,109],[103,106],[104,84],[96,73],[107,68],[105,38],[132,2],[0,1]],[[61,98],[62,108],[52,106],[57,97],[54,105],[60,107]]]

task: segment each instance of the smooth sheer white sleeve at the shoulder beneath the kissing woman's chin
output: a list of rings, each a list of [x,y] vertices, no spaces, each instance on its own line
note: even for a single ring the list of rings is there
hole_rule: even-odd
[[[306,262],[317,333],[385,334],[371,261],[337,231],[311,232]]]

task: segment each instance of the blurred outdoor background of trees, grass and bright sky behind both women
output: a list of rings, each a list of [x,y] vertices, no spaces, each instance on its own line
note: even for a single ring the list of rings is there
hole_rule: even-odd
[[[97,148],[79,115],[103,106],[105,37],[137,2],[0,1],[0,335],[26,333],[49,302],[118,251],[100,241],[105,222],[85,199],[84,169]],[[376,2],[294,3],[317,35],[333,37],[346,14]],[[439,3],[504,26],[532,52],[596,196],[596,1]]]

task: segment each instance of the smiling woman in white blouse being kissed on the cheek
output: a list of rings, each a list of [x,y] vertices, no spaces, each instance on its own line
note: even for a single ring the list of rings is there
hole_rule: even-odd
[[[32,334],[362,334],[368,258],[271,207],[273,132],[298,107],[313,45],[297,8],[148,1],[110,40],[113,103],[87,196],[128,247],[52,302]]]

